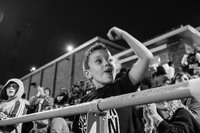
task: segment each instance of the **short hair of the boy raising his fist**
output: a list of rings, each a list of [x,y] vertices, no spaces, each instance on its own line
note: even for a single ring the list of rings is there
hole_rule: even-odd
[[[108,49],[105,47],[105,45],[101,42],[96,42],[93,46],[91,46],[84,54],[83,72],[90,68],[88,65],[89,57],[95,50],[107,50],[108,51]]]

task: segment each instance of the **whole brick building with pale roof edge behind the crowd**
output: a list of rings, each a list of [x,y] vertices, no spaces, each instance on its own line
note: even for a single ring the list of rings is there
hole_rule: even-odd
[[[54,97],[59,93],[60,87],[70,89],[74,82],[86,81],[87,79],[82,73],[83,54],[95,42],[104,43],[114,55],[114,58],[117,59],[117,63],[121,64],[121,67],[130,68],[137,59],[131,49],[103,38],[95,37],[22,77],[21,80],[24,83],[27,98],[29,99],[34,93],[34,90],[31,89],[31,83],[33,82],[37,83],[37,85],[49,87]],[[187,52],[187,49],[191,46],[200,46],[200,33],[198,29],[190,25],[181,26],[144,42],[144,45],[154,54],[155,58],[152,66],[173,61],[176,70],[178,70],[181,58]]]

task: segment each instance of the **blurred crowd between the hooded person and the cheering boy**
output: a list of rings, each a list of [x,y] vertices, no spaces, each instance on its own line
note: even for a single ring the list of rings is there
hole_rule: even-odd
[[[36,94],[27,100],[25,93],[22,98],[26,105],[26,114],[41,111],[63,108],[78,104],[80,99],[95,90],[91,83],[83,80],[75,82],[71,88],[60,88],[60,93],[54,98],[51,97],[51,89],[48,87],[31,84],[32,89],[36,89]],[[22,133],[59,133],[61,131],[70,132],[74,116],[58,117],[53,119],[37,120],[25,122],[22,125]]]

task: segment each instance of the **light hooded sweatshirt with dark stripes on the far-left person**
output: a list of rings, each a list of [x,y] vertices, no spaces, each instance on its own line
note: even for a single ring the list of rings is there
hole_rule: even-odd
[[[16,91],[14,97],[12,99],[8,99],[8,95],[6,93],[7,86],[10,83],[18,84],[19,88]],[[18,117],[25,114],[25,103],[22,100],[21,96],[24,93],[24,85],[23,82],[19,79],[13,78],[7,81],[7,83],[3,86],[0,92],[0,121],[4,119],[9,119],[12,117]],[[6,125],[0,126],[0,133],[21,133],[20,124],[14,125]]]

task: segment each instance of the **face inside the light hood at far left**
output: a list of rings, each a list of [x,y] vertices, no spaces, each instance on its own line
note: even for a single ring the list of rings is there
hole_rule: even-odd
[[[14,97],[18,89],[19,89],[19,86],[16,83],[8,84],[6,88],[6,93],[8,97]]]

